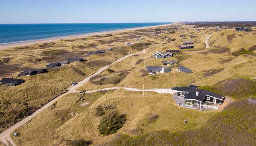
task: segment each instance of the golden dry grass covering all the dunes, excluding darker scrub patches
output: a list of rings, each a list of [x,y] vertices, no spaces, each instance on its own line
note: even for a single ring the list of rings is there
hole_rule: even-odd
[[[212,34],[212,37],[209,43],[212,44],[209,50],[204,50],[205,44],[204,40],[208,36],[209,33],[214,31],[212,30],[202,30],[199,32],[194,32],[193,30],[188,29],[189,26],[184,28],[179,28],[175,30],[175,34],[168,34],[170,38],[177,38],[177,40],[173,42],[167,42],[157,47],[150,48],[147,50],[148,54],[140,54],[137,56],[128,57],[125,60],[117,62],[111,65],[111,70],[115,73],[128,71],[129,74],[119,81],[117,84],[112,84],[113,82],[107,82],[106,84],[93,84],[93,82],[88,82],[84,84],[79,90],[94,90],[101,89],[106,87],[134,87],[134,88],[143,88],[143,81],[145,85],[145,89],[157,89],[157,88],[170,88],[178,85],[188,85],[190,83],[197,84],[199,86],[212,86],[215,84],[220,84],[219,92],[224,95],[230,95],[231,98],[237,99],[236,93],[233,89],[238,89],[236,85],[241,85],[248,87],[248,89],[252,89],[254,87],[254,83],[250,81],[241,81],[243,84],[239,84],[239,81],[235,81],[234,79],[249,79],[252,76],[255,76],[255,65],[256,65],[256,57],[251,55],[240,55],[240,56],[232,56],[233,52],[239,51],[240,48],[244,47],[245,50],[250,48],[250,51],[255,51],[253,45],[255,45],[256,37],[255,35],[251,35],[250,33],[244,32],[235,32],[231,30],[221,30]],[[15,54],[15,51],[1,51],[0,60],[7,58],[3,65],[14,65],[13,68],[16,68],[15,65],[20,63],[24,63],[21,67],[28,67],[35,65],[35,63],[27,62],[28,59],[32,59],[34,62],[35,59],[41,59],[42,51],[45,50],[67,50],[70,53],[74,53],[74,55],[84,56],[86,59],[91,62],[83,62],[83,63],[75,63],[72,65],[68,65],[67,67],[61,67],[60,69],[53,70],[54,76],[47,77],[35,77],[37,81],[42,80],[42,82],[49,82],[49,84],[55,83],[56,81],[69,83],[70,81],[79,79],[83,79],[85,76],[90,75],[95,72],[99,67],[109,64],[110,62],[115,61],[116,59],[124,56],[129,51],[131,53],[137,52],[136,49],[125,46],[122,41],[135,41],[136,38],[141,38],[142,34],[153,34],[152,30],[145,31],[133,31],[129,34],[129,32],[125,32],[124,34],[111,34],[101,37],[88,37],[86,39],[77,39],[73,42],[67,41],[58,41],[55,42],[58,45],[64,45],[66,47],[51,47],[40,49],[37,48],[35,50],[31,48],[27,48],[22,51],[19,56]],[[179,38],[178,35],[184,34],[187,32],[187,37],[185,39]],[[154,59],[152,58],[152,54],[156,51],[166,51],[166,48],[169,50],[177,49],[177,45],[182,43],[183,41],[190,39],[188,37],[189,34],[193,34],[198,36],[196,38],[192,38],[191,40],[196,42],[195,49],[191,51],[182,51],[179,56],[170,58],[170,59]],[[236,37],[232,37],[232,42],[228,42],[227,36],[235,34]],[[242,34],[242,35],[240,35]],[[135,38],[136,37],[136,38]],[[163,39],[157,37],[145,37],[145,40],[148,42],[155,42],[158,44],[163,41]],[[97,38],[97,40],[95,40]],[[102,40],[102,41],[99,41]],[[81,48],[87,46],[88,44],[96,44],[97,49],[95,48],[87,48],[88,51],[94,51],[98,49],[104,49],[109,47],[109,44],[105,44],[104,41],[109,40],[118,40],[119,42],[112,42],[111,47],[114,49],[108,53],[102,53],[97,55],[86,56],[84,55],[84,51]],[[78,48],[70,48],[69,46],[73,45],[82,45],[82,47]],[[215,46],[215,47],[214,47]],[[217,46],[217,47],[216,47]],[[147,46],[148,47],[148,46]],[[139,46],[138,48],[141,48]],[[227,49],[229,48],[229,49]],[[33,51],[31,51],[33,50]],[[87,51],[86,50],[86,51]],[[230,53],[228,53],[230,51]],[[3,52],[3,53],[2,53]],[[205,53],[207,52],[207,53]],[[67,53],[67,54],[70,54]],[[27,55],[31,54],[31,55]],[[55,59],[64,57],[64,55],[54,56]],[[52,59],[54,60],[54,59]],[[139,63],[138,63],[138,60]],[[187,74],[178,72],[177,67],[172,67],[171,73],[163,73],[157,74],[155,76],[150,76],[145,72],[144,66],[141,60],[145,60],[145,66],[150,65],[162,65],[162,61],[164,60],[175,60],[179,61],[179,65],[183,65],[185,67],[190,68],[193,73]],[[37,67],[43,66],[47,61],[37,61]],[[72,66],[72,67],[71,67]],[[97,67],[96,67],[97,66]],[[19,67],[19,69],[21,68]],[[75,67],[76,69],[74,69]],[[73,69],[72,69],[73,68]],[[224,69],[224,70],[223,70]],[[69,71],[66,71],[69,70]],[[12,70],[10,70],[12,71]],[[15,72],[15,71],[14,71]],[[49,74],[51,74],[49,72]],[[204,73],[205,72],[205,73]],[[85,75],[84,75],[84,74]],[[14,73],[15,74],[15,73]],[[49,74],[40,75],[40,76],[49,76]],[[111,74],[108,70],[104,71],[100,77]],[[64,77],[62,77],[64,76]],[[70,78],[71,76],[71,78]],[[30,77],[24,77],[29,81]],[[70,81],[66,81],[69,79]],[[234,82],[233,82],[234,80]],[[231,81],[230,84],[225,84],[224,81]],[[41,87],[40,84],[42,82],[38,82],[38,86]],[[228,82],[228,83],[229,83]],[[232,83],[232,84],[231,84]],[[248,83],[248,84],[247,84]],[[251,84],[249,84],[251,83]],[[24,86],[30,87],[29,89],[33,90],[33,86],[31,82],[26,82]],[[222,86],[223,85],[223,86]],[[20,86],[17,88],[22,88],[24,86]],[[65,89],[66,85],[57,84],[58,87],[63,87],[61,89]],[[39,88],[38,87],[38,88]],[[16,88],[16,87],[15,87]],[[15,89],[12,88],[12,89]],[[38,89],[35,87],[35,89]],[[22,92],[25,91],[26,88],[23,88]],[[48,90],[48,88],[42,88],[44,90]],[[57,88],[56,88],[57,89]],[[226,91],[226,89],[229,89]],[[244,89],[244,88],[241,88]],[[35,91],[36,91],[35,90]],[[59,88],[58,88],[59,90]],[[247,90],[247,89],[244,89]],[[33,91],[33,92],[35,92]],[[225,92],[224,92],[225,91]],[[241,90],[239,90],[239,94]],[[250,95],[254,95],[252,90],[249,90]],[[55,91],[50,91],[49,93],[57,93]],[[40,93],[40,92],[39,92]],[[234,93],[234,94],[233,94]],[[53,94],[52,94],[53,95]],[[241,94],[242,95],[242,94]],[[10,97],[11,95],[6,95],[6,97]],[[44,96],[44,95],[42,95]],[[89,95],[90,97],[95,97],[95,95]],[[243,97],[242,95],[241,97]],[[4,97],[6,99],[6,97]],[[40,96],[39,96],[40,97]],[[50,98],[50,96],[49,96]],[[177,107],[174,104],[174,101],[169,94],[157,94],[157,93],[145,93],[145,98],[142,98],[142,93],[130,92],[125,90],[115,90],[113,93],[106,93],[105,95],[97,95],[97,98],[94,101],[90,102],[90,104],[85,107],[79,106],[81,102],[78,101],[80,95],[69,95],[65,98],[62,98],[56,104],[52,110],[47,109],[45,112],[42,112],[38,117],[30,121],[23,127],[20,127],[19,132],[21,133],[20,137],[15,138],[15,142],[20,145],[66,145],[68,140],[93,140],[95,145],[109,142],[113,140],[116,135],[119,134],[129,134],[136,135],[138,133],[150,133],[155,130],[168,130],[172,132],[186,131],[190,129],[198,129],[203,127],[202,131],[195,132],[209,132],[207,129],[204,129],[205,121],[208,119],[212,119],[216,121],[218,119],[214,118],[215,112],[200,112],[191,109]],[[23,100],[23,98],[18,97]],[[46,98],[48,99],[48,98]],[[44,100],[46,100],[44,98]],[[43,100],[43,99],[42,99]],[[29,101],[30,102],[30,101]],[[40,103],[39,101],[38,103]],[[37,103],[35,101],[31,101],[31,103]],[[120,111],[120,113],[127,114],[127,124],[119,129],[116,134],[109,135],[106,137],[100,136],[97,126],[99,124],[100,118],[95,116],[95,109],[99,105],[103,106],[105,104],[113,104],[116,106],[116,110]],[[29,104],[30,105],[30,104]],[[35,104],[36,105],[36,104]],[[13,105],[12,105],[13,106]],[[241,107],[245,108],[245,107]],[[225,110],[224,110],[225,111]],[[67,113],[74,112],[78,113],[78,115],[70,117]],[[221,112],[221,114],[225,114],[226,112]],[[148,122],[148,117],[153,114],[159,115],[157,120],[154,122]],[[217,114],[218,115],[218,114]],[[64,117],[64,118],[63,118]],[[189,122],[184,124],[183,121],[188,120]],[[48,122],[55,121],[55,122]],[[225,122],[225,121],[220,121]],[[207,123],[211,125],[212,123]],[[222,127],[220,126],[217,127]],[[219,129],[214,129],[213,133],[218,133]],[[253,129],[250,129],[253,130]],[[36,134],[38,131],[42,133]],[[193,133],[194,131],[192,131]],[[242,131],[241,131],[242,132]],[[50,133],[50,134],[48,134]],[[227,132],[228,133],[228,132]],[[43,135],[46,135],[43,137]],[[200,142],[200,138],[195,138]],[[208,139],[207,139],[208,140]],[[19,141],[19,142],[18,142]],[[211,141],[212,144],[212,141]],[[214,143],[213,143],[214,144]]]

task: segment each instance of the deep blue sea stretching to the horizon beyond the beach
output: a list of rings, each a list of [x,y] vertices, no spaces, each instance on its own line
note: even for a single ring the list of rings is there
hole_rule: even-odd
[[[0,45],[164,24],[171,22],[0,24]]]

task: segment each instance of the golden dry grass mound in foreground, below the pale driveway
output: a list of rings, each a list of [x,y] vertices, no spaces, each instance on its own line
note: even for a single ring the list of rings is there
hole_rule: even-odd
[[[89,98],[96,100],[90,102],[88,107],[74,108],[80,98],[77,94],[70,94],[61,98],[54,107],[39,114],[23,127],[17,129],[19,137],[14,138],[19,145],[46,146],[49,144],[64,145],[67,140],[92,140],[99,144],[107,142],[120,133],[130,133],[131,129],[138,127],[144,132],[156,129],[185,130],[194,129],[204,124],[204,121],[211,117],[214,112],[200,112],[180,108],[174,105],[172,97],[168,94],[130,92],[116,90],[102,95],[101,93],[88,94],[84,97],[86,102]],[[80,102],[80,101],[79,101]],[[95,109],[99,105],[115,104],[116,110],[127,114],[127,123],[118,130],[116,134],[109,136],[99,135],[97,129],[100,118],[95,116]],[[159,115],[157,121],[148,123],[148,117],[152,111]],[[70,112],[77,112],[76,116],[68,115]],[[64,118],[63,118],[64,117]],[[189,124],[184,125],[186,118]],[[54,122],[49,122],[54,121]],[[38,131],[41,131],[38,133]],[[48,133],[47,135],[45,135]]]

